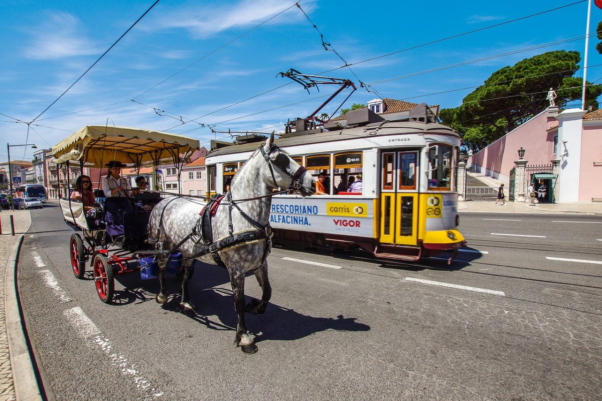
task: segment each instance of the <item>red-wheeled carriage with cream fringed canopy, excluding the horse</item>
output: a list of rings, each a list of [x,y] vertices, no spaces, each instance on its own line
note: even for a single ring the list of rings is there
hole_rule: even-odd
[[[171,133],[87,126],[55,145],[52,148],[52,161],[64,164],[67,178],[71,176],[69,171],[73,168],[79,170],[76,176],[81,176],[84,167],[101,169],[96,174],[100,186],[102,168],[110,162],[133,164],[136,171],[140,171],[141,166],[152,165],[153,170],[157,171],[161,162],[181,167],[182,162],[198,148],[199,141],[196,139]],[[86,265],[90,263],[96,291],[102,302],[111,302],[113,299],[116,275],[138,271],[142,267],[144,278],[155,266],[153,260],[156,251],[147,242],[147,224],[152,209],[161,201],[160,194],[132,189],[126,195],[119,199],[108,197],[102,202],[97,201],[93,210],[85,210],[84,201],[74,200],[68,193],[60,198],[65,221],[81,230],[81,235],[73,233],[69,242],[73,274],[77,278],[84,278]],[[102,187],[97,192],[98,198],[104,198]],[[111,236],[107,233],[105,208],[117,200],[124,204],[120,216],[123,235]]]

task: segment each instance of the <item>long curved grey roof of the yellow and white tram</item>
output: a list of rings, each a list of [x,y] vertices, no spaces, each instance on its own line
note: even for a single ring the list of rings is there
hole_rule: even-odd
[[[377,129],[378,128],[378,129]],[[438,123],[421,123],[415,121],[383,121],[380,123],[368,124],[360,127],[346,127],[340,130],[315,132],[315,130],[305,132],[293,132],[291,136],[284,136],[275,140],[275,144],[280,147],[290,147],[296,145],[319,144],[324,142],[346,141],[349,139],[367,138],[386,135],[424,135],[441,134],[451,135],[460,138],[455,130],[448,126]],[[206,158],[211,156],[231,155],[232,153],[252,152],[259,147],[258,142],[247,144],[227,145],[211,150]]]

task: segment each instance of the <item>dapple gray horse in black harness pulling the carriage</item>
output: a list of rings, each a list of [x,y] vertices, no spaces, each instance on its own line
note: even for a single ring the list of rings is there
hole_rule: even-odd
[[[156,241],[157,249],[161,251],[158,256],[161,289],[157,302],[167,302],[165,271],[169,251],[179,248],[182,253],[182,296],[179,304],[182,313],[194,314],[187,289],[193,260],[212,264],[222,262],[230,274],[238,315],[235,344],[247,354],[256,352],[255,340],[244,323],[244,312],[264,313],[272,296],[265,260],[271,248],[269,218],[272,195],[275,189],[291,186],[303,196],[315,192],[311,174],[274,145],[272,133],[232,179],[230,192],[217,207],[211,221],[213,238],[207,239],[206,228],[200,227],[201,207],[198,203],[187,198],[167,198],[158,203],[149,221],[149,240],[151,243]],[[204,239],[202,233],[205,233]],[[211,242],[211,246],[206,242]],[[249,271],[255,273],[262,296],[261,301],[254,299],[245,305],[244,277]]]

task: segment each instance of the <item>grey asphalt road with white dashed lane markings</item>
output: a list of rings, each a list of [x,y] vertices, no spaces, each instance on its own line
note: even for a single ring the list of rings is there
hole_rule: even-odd
[[[197,265],[193,318],[158,305],[155,280],[137,274],[119,277],[117,300],[105,305],[89,268],[87,280],[72,274],[73,231],[58,207],[31,214],[19,290],[49,399],[602,394],[600,217],[462,213],[470,246],[451,266],[276,246],[268,259],[272,302],[265,314],[247,315],[259,352],[244,355],[233,346],[224,269]],[[169,290],[178,292],[174,278]],[[246,292],[260,295],[252,276]]]

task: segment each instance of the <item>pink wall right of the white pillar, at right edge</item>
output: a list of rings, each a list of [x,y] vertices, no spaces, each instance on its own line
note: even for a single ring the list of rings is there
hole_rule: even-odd
[[[583,126],[581,139],[581,174],[579,177],[579,201],[591,202],[592,198],[602,198],[602,126]]]

